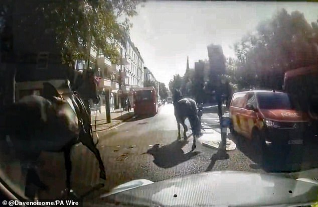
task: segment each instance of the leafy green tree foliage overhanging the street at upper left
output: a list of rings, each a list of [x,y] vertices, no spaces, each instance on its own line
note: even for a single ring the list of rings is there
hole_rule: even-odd
[[[97,47],[97,52],[108,56],[113,63],[118,62],[119,52],[114,40],[121,41],[124,35],[129,33],[128,18],[137,14],[136,5],[141,2],[139,0],[4,1],[5,5],[23,11],[12,14],[17,16],[15,18],[17,27],[30,30],[30,25],[24,24],[24,21],[32,19],[34,25],[43,27],[40,31],[36,30],[37,32],[52,34],[63,63],[71,66],[76,59],[88,60],[92,45]],[[32,41],[37,42],[37,40]]]

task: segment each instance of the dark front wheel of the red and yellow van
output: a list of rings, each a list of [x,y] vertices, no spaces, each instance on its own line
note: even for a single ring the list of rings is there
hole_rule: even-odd
[[[253,131],[252,146],[254,148],[254,151],[256,152],[256,155],[258,155],[260,162],[259,164],[264,165],[268,156],[268,147],[266,145],[263,133],[258,130]]]

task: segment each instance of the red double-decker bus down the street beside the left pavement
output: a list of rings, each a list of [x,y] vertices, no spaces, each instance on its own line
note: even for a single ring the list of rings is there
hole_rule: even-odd
[[[155,115],[158,112],[157,93],[154,87],[134,89],[133,100],[135,115]]]

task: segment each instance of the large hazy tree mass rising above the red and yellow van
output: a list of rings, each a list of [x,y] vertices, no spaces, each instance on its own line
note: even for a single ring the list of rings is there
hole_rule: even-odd
[[[318,63],[315,28],[298,11],[282,9],[234,45],[240,87],[281,89],[286,71]]]

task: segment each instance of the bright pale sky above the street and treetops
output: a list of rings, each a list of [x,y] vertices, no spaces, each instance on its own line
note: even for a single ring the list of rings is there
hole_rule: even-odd
[[[130,38],[145,66],[166,86],[174,74],[184,75],[187,56],[190,68],[208,59],[211,43],[235,57],[230,47],[278,9],[298,10],[309,23],[318,19],[317,3],[148,1],[143,6],[131,19]]]

